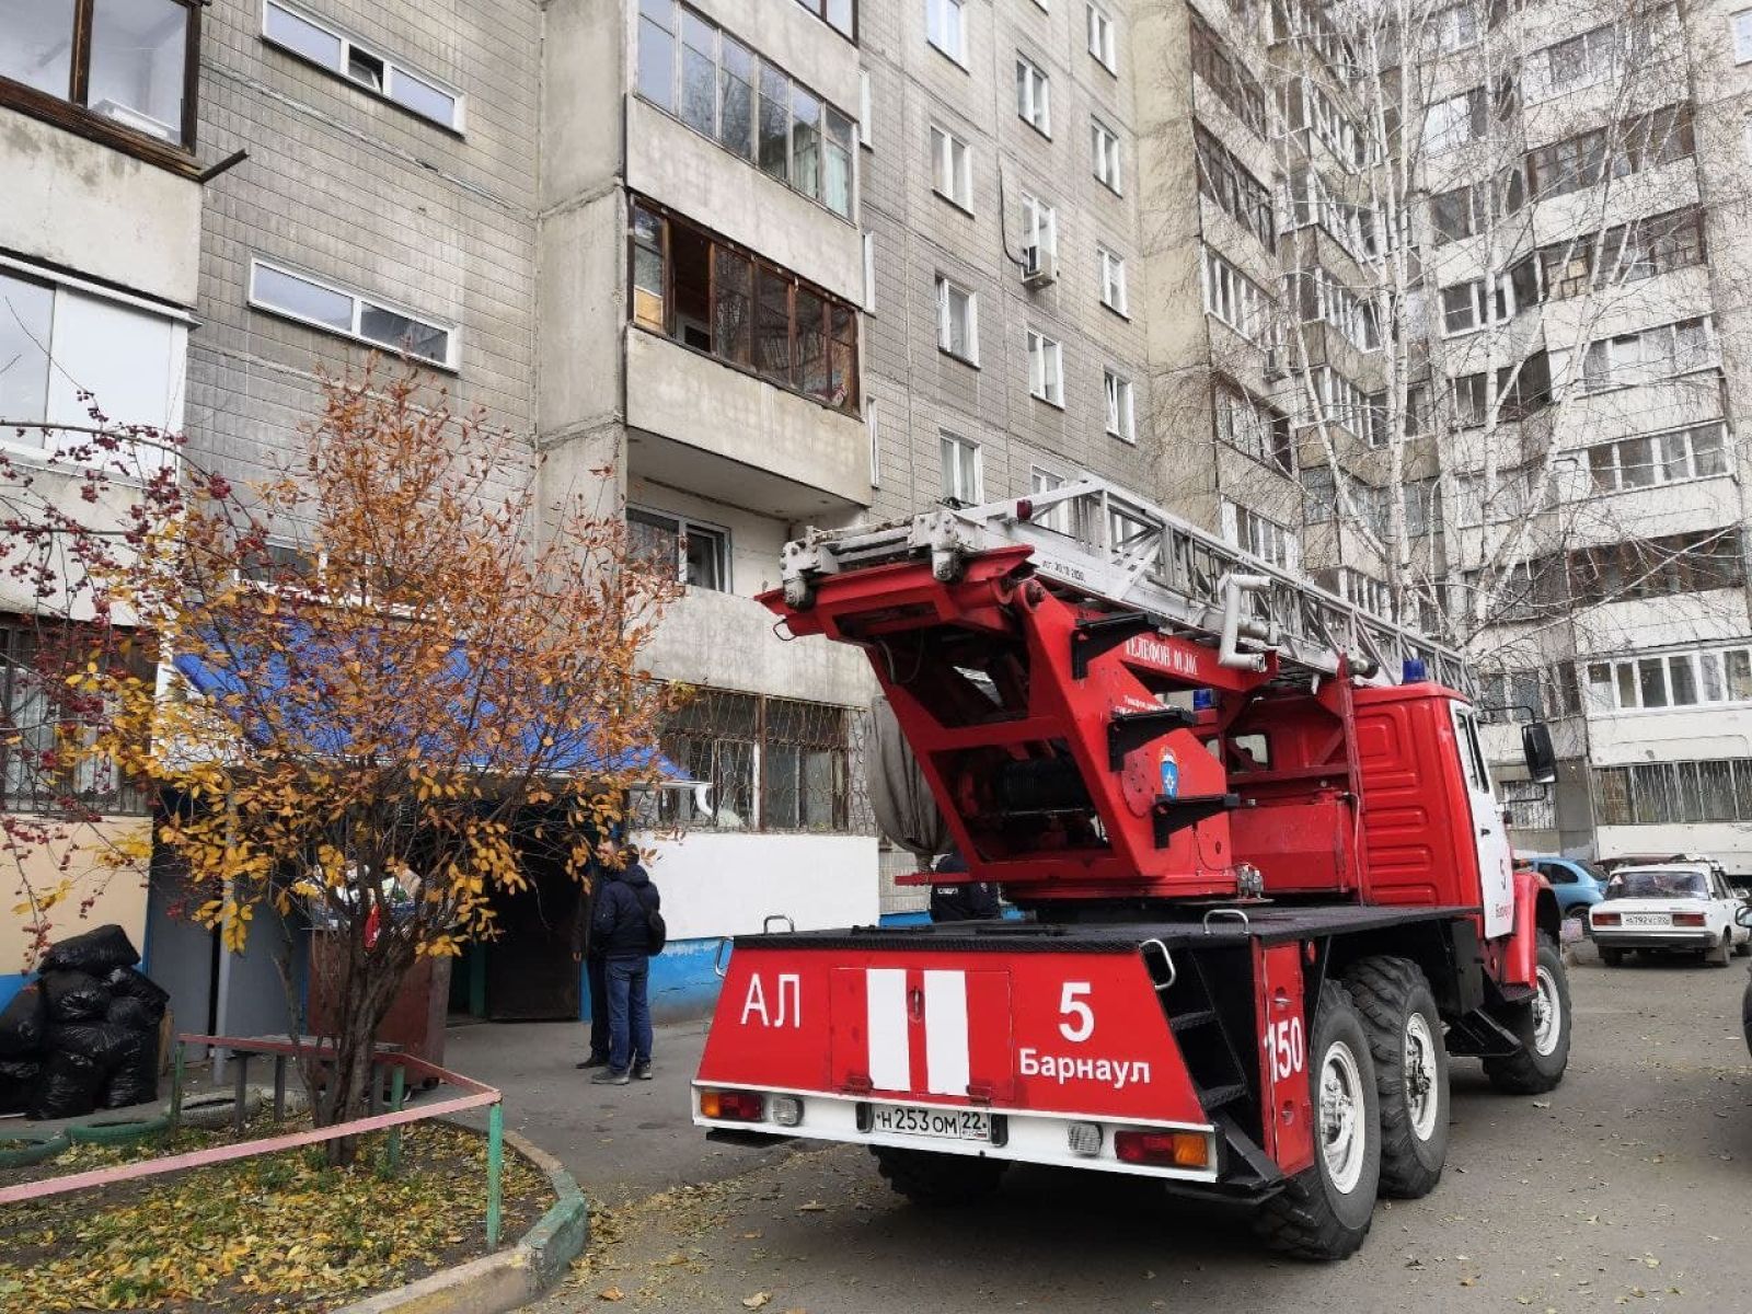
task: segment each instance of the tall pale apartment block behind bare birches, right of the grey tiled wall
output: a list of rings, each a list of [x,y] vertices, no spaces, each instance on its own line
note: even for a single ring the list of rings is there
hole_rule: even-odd
[[[1205,312],[1149,315],[1165,499],[1466,643],[1524,848],[1752,869],[1752,14],[1409,12],[1151,16],[1144,277]]]

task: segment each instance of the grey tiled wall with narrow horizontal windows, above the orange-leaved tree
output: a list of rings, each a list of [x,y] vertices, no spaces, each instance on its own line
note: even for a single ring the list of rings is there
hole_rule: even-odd
[[[317,18],[466,96],[443,128],[261,37],[259,0],[201,23],[201,158],[249,159],[207,187],[189,447],[266,473],[315,406],[315,375],[366,349],[249,307],[251,256],[308,270],[461,328],[463,406],[526,433],[534,408],[534,0],[308,0]]]

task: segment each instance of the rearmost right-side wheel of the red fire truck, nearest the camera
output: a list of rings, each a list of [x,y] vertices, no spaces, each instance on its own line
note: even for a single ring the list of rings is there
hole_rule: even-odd
[[[1381,1190],[1381,1095],[1368,1030],[1337,981],[1321,985],[1309,1044],[1314,1167],[1298,1172],[1254,1214],[1256,1235],[1298,1260],[1356,1253]]]

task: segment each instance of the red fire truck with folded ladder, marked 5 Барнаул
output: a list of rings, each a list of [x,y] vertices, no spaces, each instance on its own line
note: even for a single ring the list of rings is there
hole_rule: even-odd
[[[1332,1260],[1442,1176],[1451,1056],[1563,1079],[1558,902],[1458,653],[1099,480],[815,533],[762,601],[869,653],[967,858],[939,880],[1025,916],[736,937],[713,1135],[864,1144],[920,1202],[1156,1177]]]

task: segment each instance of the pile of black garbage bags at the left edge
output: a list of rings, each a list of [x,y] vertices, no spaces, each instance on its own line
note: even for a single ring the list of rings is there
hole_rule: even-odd
[[[121,927],[60,941],[0,1013],[0,1114],[79,1118],[158,1099],[170,995]]]

